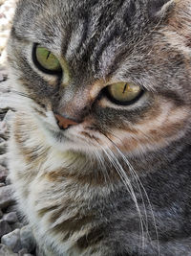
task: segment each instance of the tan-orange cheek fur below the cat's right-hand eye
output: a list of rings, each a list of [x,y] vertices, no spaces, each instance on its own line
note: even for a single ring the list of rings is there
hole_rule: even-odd
[[[189,119],[189,109],[177,107],[172,109],[165,105],[160,109],[159,116],[148,122],[142,120],[134,128],[128,130],[114,130],[111,140],[117,145],[120,151],[129,154],[145,153],[156,151],[167,147],[170,143],[180,140],[184,136]],[[118,139],[119,138],[119,139]],[[115,147],[113,147],[115,150]]]

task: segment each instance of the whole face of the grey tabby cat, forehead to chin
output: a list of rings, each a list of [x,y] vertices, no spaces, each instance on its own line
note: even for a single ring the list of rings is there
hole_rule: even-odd
[[[132,155],[184,134],[190,17],[180,15],[188,1],[176,2],[19,2],[9,43],[16,89],[53,144]],[[61,130],[56,114],[75,125]]]

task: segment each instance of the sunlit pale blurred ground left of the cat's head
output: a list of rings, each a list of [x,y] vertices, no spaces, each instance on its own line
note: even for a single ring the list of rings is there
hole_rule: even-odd
[[[0,0],[0,67],[6,66],[6,44],[17,0]]]

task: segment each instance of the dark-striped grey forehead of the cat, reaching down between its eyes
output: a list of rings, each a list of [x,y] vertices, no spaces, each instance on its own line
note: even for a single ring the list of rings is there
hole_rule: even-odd
[[[87,63],[91,57],[94,66],[98,63],[107,72],[121,51],[130,52],[146,35],[153,7],[157,12],[164,2],[167,0],[25,0],[18,6],[14,28],[20,37],[69,61],[78,58]]]

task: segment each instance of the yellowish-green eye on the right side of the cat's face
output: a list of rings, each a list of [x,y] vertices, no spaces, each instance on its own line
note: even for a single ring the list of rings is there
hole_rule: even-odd
[[[130,105],[142,94],[142,89],[131,82],[117,82],[107,86],[107,95],[118,105]]]

